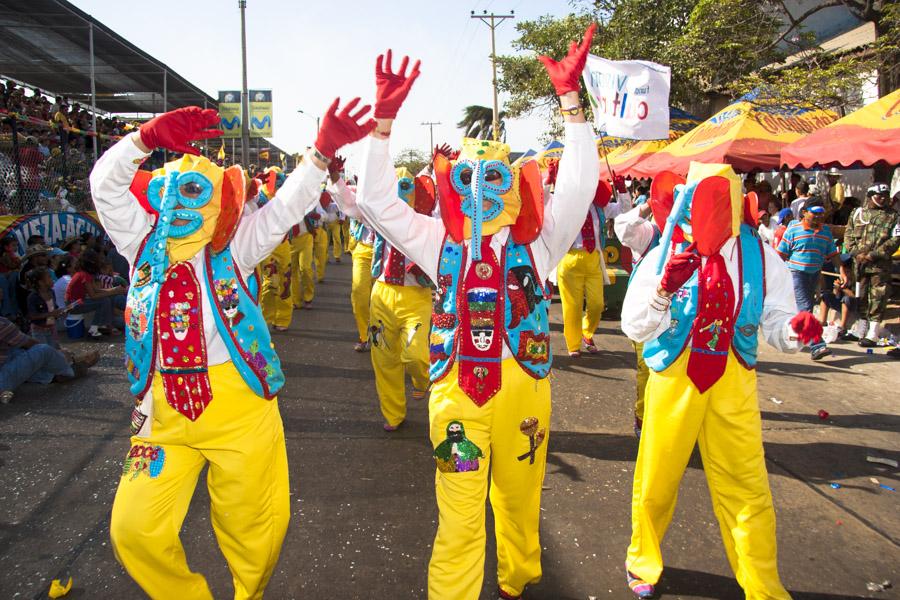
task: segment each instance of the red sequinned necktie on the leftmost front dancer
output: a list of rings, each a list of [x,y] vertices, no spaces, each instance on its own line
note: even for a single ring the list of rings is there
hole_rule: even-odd
[[[196,421],[212,402],[200,283],[189,263],[166,272],[156,307],[159,373],[169,406]]]

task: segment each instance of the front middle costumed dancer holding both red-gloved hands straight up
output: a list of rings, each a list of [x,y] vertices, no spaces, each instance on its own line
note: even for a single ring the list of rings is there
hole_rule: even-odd
[[[541,57],[564,109],[579,105],[595,26],[561,62]],[[429,418],[439,524],[428,569],[432,599],[478,598],[484,576],[485,497],[494,512],[499,593],[517,598],[541,577],[541,484],[550,425],[546,274],[568,250],[594,197],[599,160],[581,111],[564,113],[566,147],[544,210],[535,162],[509,146],[463,140],[456,161],[435,157],[441,219],[397,197],[391,126],[419,75],[408,59],[376,66],[378,127],[367,140],[358,202],[367,221],[437,285]]]

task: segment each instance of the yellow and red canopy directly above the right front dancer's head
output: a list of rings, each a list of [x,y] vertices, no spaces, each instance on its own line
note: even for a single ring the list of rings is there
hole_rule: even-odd
[[[686,175],[691,162],[727,163],[739,173],[776,170],[784,146],[836,119],[831,111],[776,105],[748,94],[632,167],[631,175]]]

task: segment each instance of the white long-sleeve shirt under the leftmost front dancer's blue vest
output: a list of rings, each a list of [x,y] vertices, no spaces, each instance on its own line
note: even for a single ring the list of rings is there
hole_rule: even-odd
[[[154,226],[154,217],[140,207],[129,189],[147,156],[130,137],[124,138],[100,157],[90,176],[91,194],[100,223],[132,268],[141,243]],[[310,205],[318,201],[324,175],[325,172],[311,160],[304,160],[271,201],[253,212],[244,211],[231,242],[231,252],[245,279],[284,240],[291,227],[303,220]],[[207,298],[206,279],[199,277],[203,272],[203,252],[197,253],[188,262],[200,282],[207,364],[222,364],[231,357],[216,327],[214,309]]]

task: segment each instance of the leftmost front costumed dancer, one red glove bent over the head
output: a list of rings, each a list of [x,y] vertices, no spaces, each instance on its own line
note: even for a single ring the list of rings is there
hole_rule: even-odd
[[[136,406],[110,536],[151,598],[212,598],[179,539],[206,465],[211,523],[234,597],[261,598],[278,560],[290,516],[275,401],[284,376],[256,304],[254,270],[316,202],[337,148],[375,126],[358,123],[368,107],[351,114],[358,101],[340,113],[334,101],[307,160],[256,211],[244,210],[243,170],[223,170],[189,144],[221,135],[212,129],[214,110],[151,119],[91,173],[100,222],[132,268],[125,366]],[[185,154],[139,171],[155,148]]]

